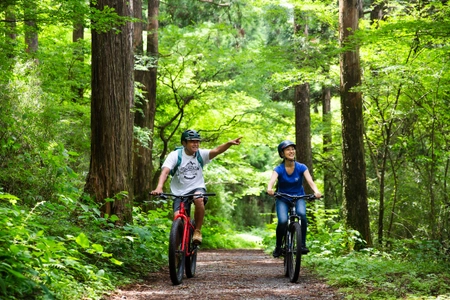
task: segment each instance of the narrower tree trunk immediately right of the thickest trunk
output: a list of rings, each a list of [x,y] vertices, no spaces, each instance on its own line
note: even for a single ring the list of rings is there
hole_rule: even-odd
[[[146,71],[136,71],[136,80],[144,85],[146,99],[136,103],[138,112],[134,124],[147,129],[151,138],[148,145],[140,145],[138,141],[135,141],[133,177],[136,201],[138,202],[148,198],[148,192],[152,190],[153,186],[152,148],[156,111],[159,0],[149,0],[148,8],[147,56],[149,56],[151,64]]]

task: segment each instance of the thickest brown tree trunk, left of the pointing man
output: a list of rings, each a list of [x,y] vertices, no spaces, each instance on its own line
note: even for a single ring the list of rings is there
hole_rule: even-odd
[[[95,7],[102,11],[108,6],[131,17],[129,5],[125,0],[98,0]],[[85,191],[104,214],[115,214],[124,224],[132,220],[133,203],[133,26],[126,22],[119,29],[92,31],[91,163]]]

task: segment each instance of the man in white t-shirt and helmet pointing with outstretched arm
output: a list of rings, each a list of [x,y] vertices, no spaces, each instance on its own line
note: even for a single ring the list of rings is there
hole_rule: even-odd
[[[200,134],[195,130],[186,130],[181,134],[182,150],[175,150],[169,153],[161,167],[158,186],[151,192],[159,195],[163,192],[164,183],[171,171],[175,171],[170,182],[170,190],[175,195],[185,195],[191,193],[205,193],[206,186],[203,177],[203,165],[209,163],[217,155],[227,151],[232,145],[239,145],[241,138],[231,140],[217,146],[212,150],[200,149]],[[199,157],[200,156],[200,157]],[[181,199],[177,198],[173,203],[174,214],[177,215],[180,209]],[[202,243],[201,228],[205,216],[204,198],[197,198],[195,205],[195,231],[194,243]]]

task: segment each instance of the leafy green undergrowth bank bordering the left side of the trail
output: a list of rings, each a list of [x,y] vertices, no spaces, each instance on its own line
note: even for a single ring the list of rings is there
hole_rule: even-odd
[[[0,193],[1,299],[100,299],[167,264],[170,209],[135,208],[118,227],[89,199],[20,201]]]

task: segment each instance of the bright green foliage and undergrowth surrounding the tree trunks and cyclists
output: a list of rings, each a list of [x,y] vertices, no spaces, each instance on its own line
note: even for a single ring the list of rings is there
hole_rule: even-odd
[[[73,25],[105,32],[129,18],[86,1],[37,1],[39,48],[26,53],[24,3],[0,4],[0,19],[8,10],[17,20],[0,22],[0,297],[100,298],[167,263],[170,204],[147,212],[135,207],[134,222],[117,227],[117,216],[80,199],[90,160],[91,58],[89,30],[73,43]],[[279,163],[276,145],[295,138],[292,87],[298,83],[310,82],[314,110],[323,87],[334,96],[331,128],[320,113],[311,115],[314,176],[322,186],[330,171],[335,207],[342,201],[336,1],[292,4],[161,3],[156,132],[136,128],[136,139],[142,145],[154,139],[157,157],[178,145],[186,128],[201,130],[202,147],[209,149],[243,136],[239,147],[205,167],[208,190],[217,197],[206,207],[204,247],[273,247],[273,202],[261,192]],[[354,252],[361,238],[342,224],[339,209],[311,205],[312,253],[305,262],[346,291],[364,291],[354,298],[444,295],[449,5],[394,1],[385,12],[374,23],[365,14],[355,33],[364,74],[358,90],[371,229],[378,232],[381,221],[383,242],[379,250]],[[308,35],[294,35],[294,17]],[[155,58],[139,59],[139,69],[154,66]],[[137,88],[141,101],[142,93]],[[327,132],[331,151],[323,153]],[[247,243],[241,231],[248,230],[262,242]]]

